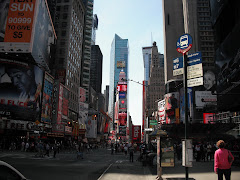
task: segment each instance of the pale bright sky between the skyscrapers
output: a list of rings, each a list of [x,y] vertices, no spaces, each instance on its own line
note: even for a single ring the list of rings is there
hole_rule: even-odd
[[[142,47],[156,41],[158,52],[164,53],[161,0],[94,0],[98,16],[96,45],[103,54],[102,93],[110,82],[110,51],[114,35],[128,39],[128,79],[142,83],[144,65]],[[142,85],[129,81],[128,105],[134,125],[142,125]]]

